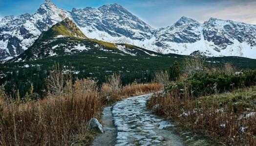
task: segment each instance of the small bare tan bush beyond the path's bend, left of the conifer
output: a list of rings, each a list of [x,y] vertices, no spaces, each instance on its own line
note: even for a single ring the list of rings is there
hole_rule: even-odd
[[[154,73],[154,82],[162,85],[163,87],[169,83],[169,73],[158,71]]]

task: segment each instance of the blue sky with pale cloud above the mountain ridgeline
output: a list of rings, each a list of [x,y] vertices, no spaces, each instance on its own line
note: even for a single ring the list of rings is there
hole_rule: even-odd
[[[0,0],[0,19],[4,16],[33,14],[44,0]],[[57,7],[100,7],[118,3],[154,28],[166,27],[182,16],[201,23],[209,18],[256,24],[256,0],[50,0]]]

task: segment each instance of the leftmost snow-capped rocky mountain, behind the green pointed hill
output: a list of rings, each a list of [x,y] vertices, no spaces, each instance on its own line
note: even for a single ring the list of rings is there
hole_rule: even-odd
[[[57,8],[49,0],[40,6],[33,15],[7,16],[0,20],[0,60],[20,55],[52,25],[69,13]]]

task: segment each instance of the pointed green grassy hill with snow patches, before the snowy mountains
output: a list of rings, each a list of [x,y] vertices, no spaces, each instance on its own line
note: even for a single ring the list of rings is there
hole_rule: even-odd
[[[118,54],[132,56],[161,56],[143,48],[129,44],[114,44],[105,41],[90,39],[77,27],[65,18],[43,32],[35,43],[21,55],[9,61],[37,60],[49,56],[78,55],[78,54]]]

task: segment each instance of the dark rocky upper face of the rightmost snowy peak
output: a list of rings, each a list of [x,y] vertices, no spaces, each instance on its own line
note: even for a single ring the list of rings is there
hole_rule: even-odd
[[[250,47],[256,46],[256,25],[210,18],[203,26],[204,39],[212,41],[216,45],[213,49],[217,52],[235,44],[236,41],[245,42]]]

